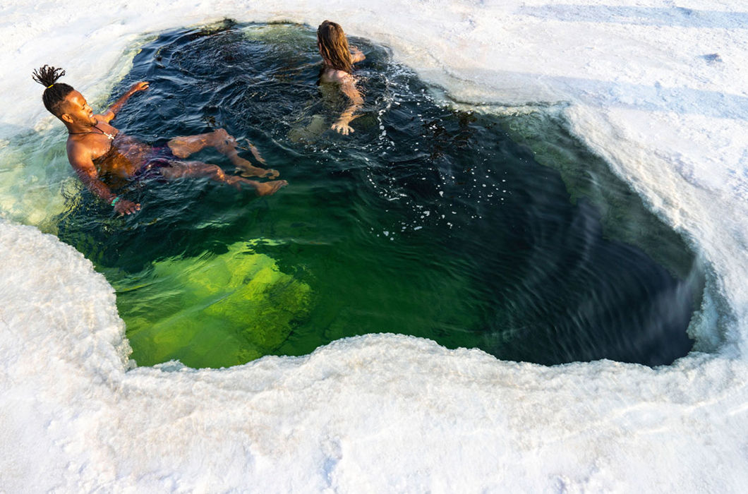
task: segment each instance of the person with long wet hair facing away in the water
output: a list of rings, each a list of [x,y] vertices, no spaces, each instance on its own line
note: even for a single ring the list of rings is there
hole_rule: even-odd
[[[337,22],[326,20],[317,28],[317,48],[322,55],[322,70],[319,73],[319,82],[340,86],[340,91],[346,95],[351,102],[343,110],[343,113],[334,121],[330,127],[343,135],[353,132],[349,125],[354,118],[356,110],[364,104],[364,98],[356,88],[356,79],[353,76],[353,64],[366,58],[358,48],[353,52],[348,46],[348,39],[343,28]]]

